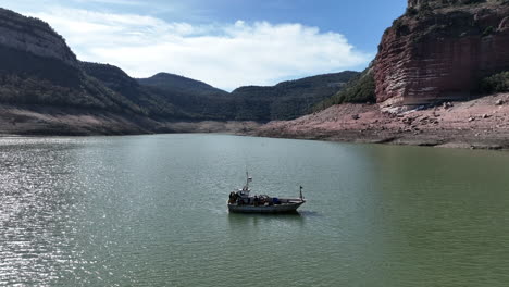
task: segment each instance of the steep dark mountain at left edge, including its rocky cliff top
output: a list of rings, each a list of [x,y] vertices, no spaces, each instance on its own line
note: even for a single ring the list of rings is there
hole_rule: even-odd
[[[86,74],[48,24],[0,9],[0,102],[145,114]]]

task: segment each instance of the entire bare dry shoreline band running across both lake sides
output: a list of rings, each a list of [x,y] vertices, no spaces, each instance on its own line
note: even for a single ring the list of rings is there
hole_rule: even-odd
[[[340,104],[294,121],[160,122],[112,113],[0,105],[0,135],[92,136],[226,133],[277,138],[509,149],[509,93],[407,112]]]

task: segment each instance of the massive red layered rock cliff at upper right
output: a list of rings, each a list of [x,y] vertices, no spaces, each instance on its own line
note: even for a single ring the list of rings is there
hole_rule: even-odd
[[[376,97],[390,104],[465,98],[509,68],[509,1],[409,0],[375,60]]]

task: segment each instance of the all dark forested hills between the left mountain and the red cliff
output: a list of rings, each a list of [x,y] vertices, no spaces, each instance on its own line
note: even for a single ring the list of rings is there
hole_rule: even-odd
[[[142,107],[147,114],[177,120],[290,120],[331,97],[357,72],[319,75],[272,87],[240,87],[228,93],[206,83],[166,73],[134,79],[108,64],[82,63],[105,87]]]

